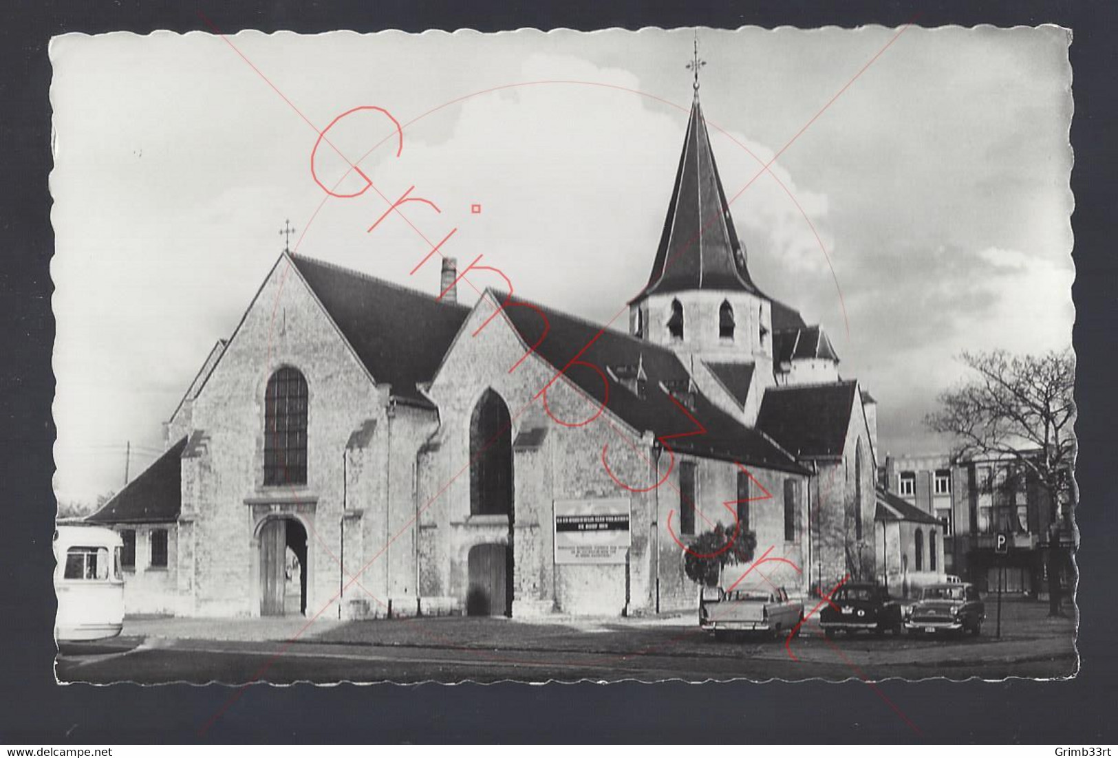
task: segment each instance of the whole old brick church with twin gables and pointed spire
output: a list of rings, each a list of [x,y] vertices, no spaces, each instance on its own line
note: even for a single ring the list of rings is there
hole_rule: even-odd
[[[789,594],[872,579],[875,402],[752,279],[698,87],[650,257],[616,331],[461,304],[449,258],[418,292],[285,252],[89,517],[124,537],[127,610],[679,612],[716,523]]]

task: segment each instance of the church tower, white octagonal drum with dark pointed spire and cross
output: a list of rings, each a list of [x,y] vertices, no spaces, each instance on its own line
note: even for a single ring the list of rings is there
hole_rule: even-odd
[[[694,100],[667,217],[648,283],[629,303],[631,333],[674,350],[697,379],[699,363],[751,367],[774,383],[773,302],[754,284],[714,163],[707,122]],[[759,381],[758,381],[759,380]]]

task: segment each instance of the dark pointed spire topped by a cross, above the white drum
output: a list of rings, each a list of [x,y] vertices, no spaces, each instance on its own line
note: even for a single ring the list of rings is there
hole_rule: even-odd
[[[638,297],[686,290],[757,293],[746,267],[746,250],[733,228],[699,103],[698,70],[702,64],[697,39],[694,60],[688,65],[695,72],[695,96],[683,153],[652,275]]]

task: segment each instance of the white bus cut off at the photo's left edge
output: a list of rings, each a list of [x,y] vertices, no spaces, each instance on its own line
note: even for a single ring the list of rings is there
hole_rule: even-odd
[[[121,536],[91,525],[55,528],[55,639],[115,637],[124,623]]]

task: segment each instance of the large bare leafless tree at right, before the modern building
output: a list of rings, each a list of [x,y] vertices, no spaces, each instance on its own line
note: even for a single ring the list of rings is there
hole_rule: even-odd
[[[926,424],[958,442],[959,457],[996,455],[1032,472],[1049,496],[1051,523],[1058,524],[1064,496],[1074,502],[1076,362],[1070,349],[1041,356],[1004,350],[965,352],[961,361],[976,376],[939,396],[940,409]],[[1062,551],[1050,534],[1049,614],[1060,615]]]

